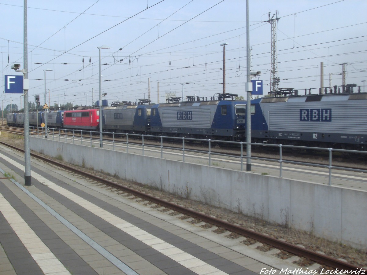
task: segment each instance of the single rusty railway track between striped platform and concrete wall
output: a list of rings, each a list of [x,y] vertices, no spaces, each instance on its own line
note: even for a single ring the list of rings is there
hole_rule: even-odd
[[[1,142],[1,144],[4,144],[8,147],[13,148],[14,150],[18,150],[24,153],[22,149],[19,149],[17,147],[14,147],[10,144],[6,144]],[[212,217],[210,215],[197,212],[193,209],[188,209],[183,206],[177,205],[176,203],[169,202],[167,200],[148,195],[144,192],[134,190],[132,188],[123,186],[119,183],[116,183],[114,181],[110,181],[108,179],[104,179],[102,177],[92,175],[90,172],[84,172],[80,169],[74,168],[72,166],[62,164],[58,161],[54,161],[49,158],[45,158],[43,156],[33,154],[31,153],[32,157],[35,157],[37,159],[40,159],[41,161],[47,162],[48,164],[56,165],[62,169],[71,171],[72,173],[75,173],[77,175],[81,175],[83,177],[86,177],[88,179],[91,179],[95,181],[96,183],[99,183],[99,185],[103,184],[106,186],[110,186],[116,190],[119,190],[121,192],[127,193],[132,199],[134,200],[140,200],[146,204],[155,204],[157,205],[157,209],[162,210],[165,209],[167,212],[176,212],[181,213],[181,216],[184,216],[185,219],[192,218],[192,220],[195,220],[195,223],[205,223],[209,224],[211,226],[218,227],[222,229],[222,231],[229,231],[231,235],[235,234],[237,236],[244,236],[245,238],[250,238],[250,240],[254,240],[254,242],[261,243],[261,245],[269,246],[270,249],[279,249],[280,253],[286,253],[286,254],[293,254],[298,257],[302,257],[305,259],[308,259],[312,262],[315,262],[317,264],[320,264],[323,267],[327,268],[333,268],[338,270],[348,270],[348,271],[356,271],[356,270],[364,270],[367,271],[367,269],[363,269],[357,265],[351,264],[346,262],[345,260],[333,258],[327,255],[324,255],[319,252],[312,251],[310,249],[306,249],[305,247],[294,245],[292,243],[288,243],[284,240],[273,238],[267,234],[261,234],[259,232],[252,231],[250,229],[241,227],[236,224],[229,223],[228,221],[217,219],[215,217]],[[126,195],[126,194],[125,194]],[[139,199],[140,198],[140,199]],[[147,203],[148,202],[148,203]],[[170,211],[171,210],[171,211]],[[163,211],[166,212],[166,211]],[[189,219],[190,220],[190,219]],[[220,230],[219,230],[220,231]],[[251,241],[250,241],[251,242]],[[252,242],[252,243],[254,243]]]

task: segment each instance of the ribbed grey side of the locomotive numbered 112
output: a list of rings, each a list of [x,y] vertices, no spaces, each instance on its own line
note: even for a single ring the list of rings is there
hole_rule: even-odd
[[[262,137],[288,140],[289,144],[306,141],[309,146],[367,143],[366,94],[299,96],[269,102],[271,100],[260,103],[269,125],[268,131],[261,133]]]

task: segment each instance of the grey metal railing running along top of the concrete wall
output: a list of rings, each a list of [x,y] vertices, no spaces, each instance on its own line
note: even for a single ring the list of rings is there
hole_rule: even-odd
[[[36,135],[37,127],[32,127],[33,136]],[[44,136],[44,129],[42,128],[41,136]],[[63,133],[62,133],[63,132]],[[65,130],[65,129],[57,129],[57,128],[48,128],[48,138],[55,140],[58,139],[59,141],[65,141],[65,142],[71,142],[74,144],[76,139],[80,139],[80,144],[89,146],[94,146],[93,142],[95,142],[99,138],[95,137],[99,135],[99,131],[86,131],[86,130]],[[103,135],[112,136],[112,140],[109,138],[106,138],[103,140]],[[264,143],[246,143],[246,142],[232,142],[232,141],[224,141],[224,140],[211,140],[211,139],[192,139],[187,137],[168,137],[168,136],[152,136],[152,135],[138,135],[138,134],[129,134],[129,133],[114,133],[114,132],[103,132],[102,135],[102,143],[105,142],[105,144],[112,144],[112,150],[115,150],[115,147],[117,145],[121,146],[121,144],[124,144],[126,146],[126,153],[129,152],[129,146],[134,146],[134,149],[136,149],[136,146],[141,146],[142,155],[145,155],[145,147],[150,148],[158,148],[160,149],[160,157],[163,158],[164,156],[164,149],[166,150],[177,150],[182,152],[182,162],[185,162],[185,156],[186,152],[192,152],[192,153],[200,153],[203,155],[208,156],[208,166],[212,166],[212,158],[213,156],[221,156],[221,157],[228,157],[233,159],[239,159],[240,163],[240,170],[243,171],[243,162],[244,159],[248,159],[246,155],[246,145],[251,144],[251,146],[267,146],[267,147],[273,147],[273,148],[279,148],[279,158],[273,159],[273,158],[264,158],[264,157],[253,157],[251,156],[250,159],[255,160],[262,160],[262,161],[273,161],[279,163],[279,177],[283,177],[283,164],[298,164],[298,165],[306,165],[306,166],[313,166],[313,167],[321,167],[321,168],[327,168],[328,169],[328,185],[331,186],[332,181],[332,169],[344,169],[348,171],[354,171],[354,172],[364,172],[367,173],[366,169],[357,169],[357,168],[347,168],[347,167],[341,167],[341,166],[334,166],[333,165],[333,153],[339,152],[341,154],[360,154],[360,155],[367,155],[367,151],[358,151],[358,150],[343,150],[343,149],[334,149],[334,148],[321,148],[321,147],[306,147],[306,146],[294,146],[294,145],[283,145],[283,144],[264,144]],[[138,144],[138,140],[141,139],[141,141]],[[87,142],[85,142],[87,140]],[[133,141],[132,141],[133,140]],[[152,143],[146,143],[146,140],[154,141],[158,140],[160,145],[155,145]],[[171,146],[164,146],[164,140],[177,140],[179,141],[177,144],[182,144],[181,147],[171,147]],[[190,142],[201,142],[201,144],[207,144],[208,150],[196,150],[192,148],[188,148],[186,145]],[[239,150],[239,154],[225,154],[225,153],[218,153],[212,151],[213,144],[225,144],[226,146],[231,146],[232,148],[237,148]],[[324,164],[315,164],[312,162],[299,162],[299,161],[291,161],[291,160],[285,160],[283,159],[283,150],[284,148],[288,148],[290,150],[315,150],[315,151],[328,151],[328,165]]]

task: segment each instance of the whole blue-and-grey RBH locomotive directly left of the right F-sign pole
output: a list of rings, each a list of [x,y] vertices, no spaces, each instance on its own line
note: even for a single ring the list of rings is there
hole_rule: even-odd
[[[156,104],[150,110],[154,135],[243,140],[246,101],[210,100]]]

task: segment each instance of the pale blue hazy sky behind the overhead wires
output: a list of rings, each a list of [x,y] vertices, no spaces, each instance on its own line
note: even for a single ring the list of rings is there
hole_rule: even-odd
[[[366,0],[250,0],[249,10],[251,69],[262,72],[265,94],[271,25],[264,21],[276,11],[279,88],[316,92],[320,62],[324,87],[330,78],[332,86],[342,84],[341,63],[347,63],[346,84],[367,80]],[[23,0],[0,0],[0,25],[4,91],[4,75],[19,74],[11,65],[23,68]],[[226,92],[246,98],[245,0],[29,0],[29,101],[40,95],[44,103],[44,70],[51,69],[46,72],[51,106],[64,101],[91,106],[99,97],[102,45],[110,47],[101,49],[102,93],[109,103],[148,99],[149,86],[150,100],[157,103],[157,83],[159,102],[167,92],[210,97],[222,92],[222,43],[228,43]],[[2,93],[0,100],[19,106],[21,97]]]

